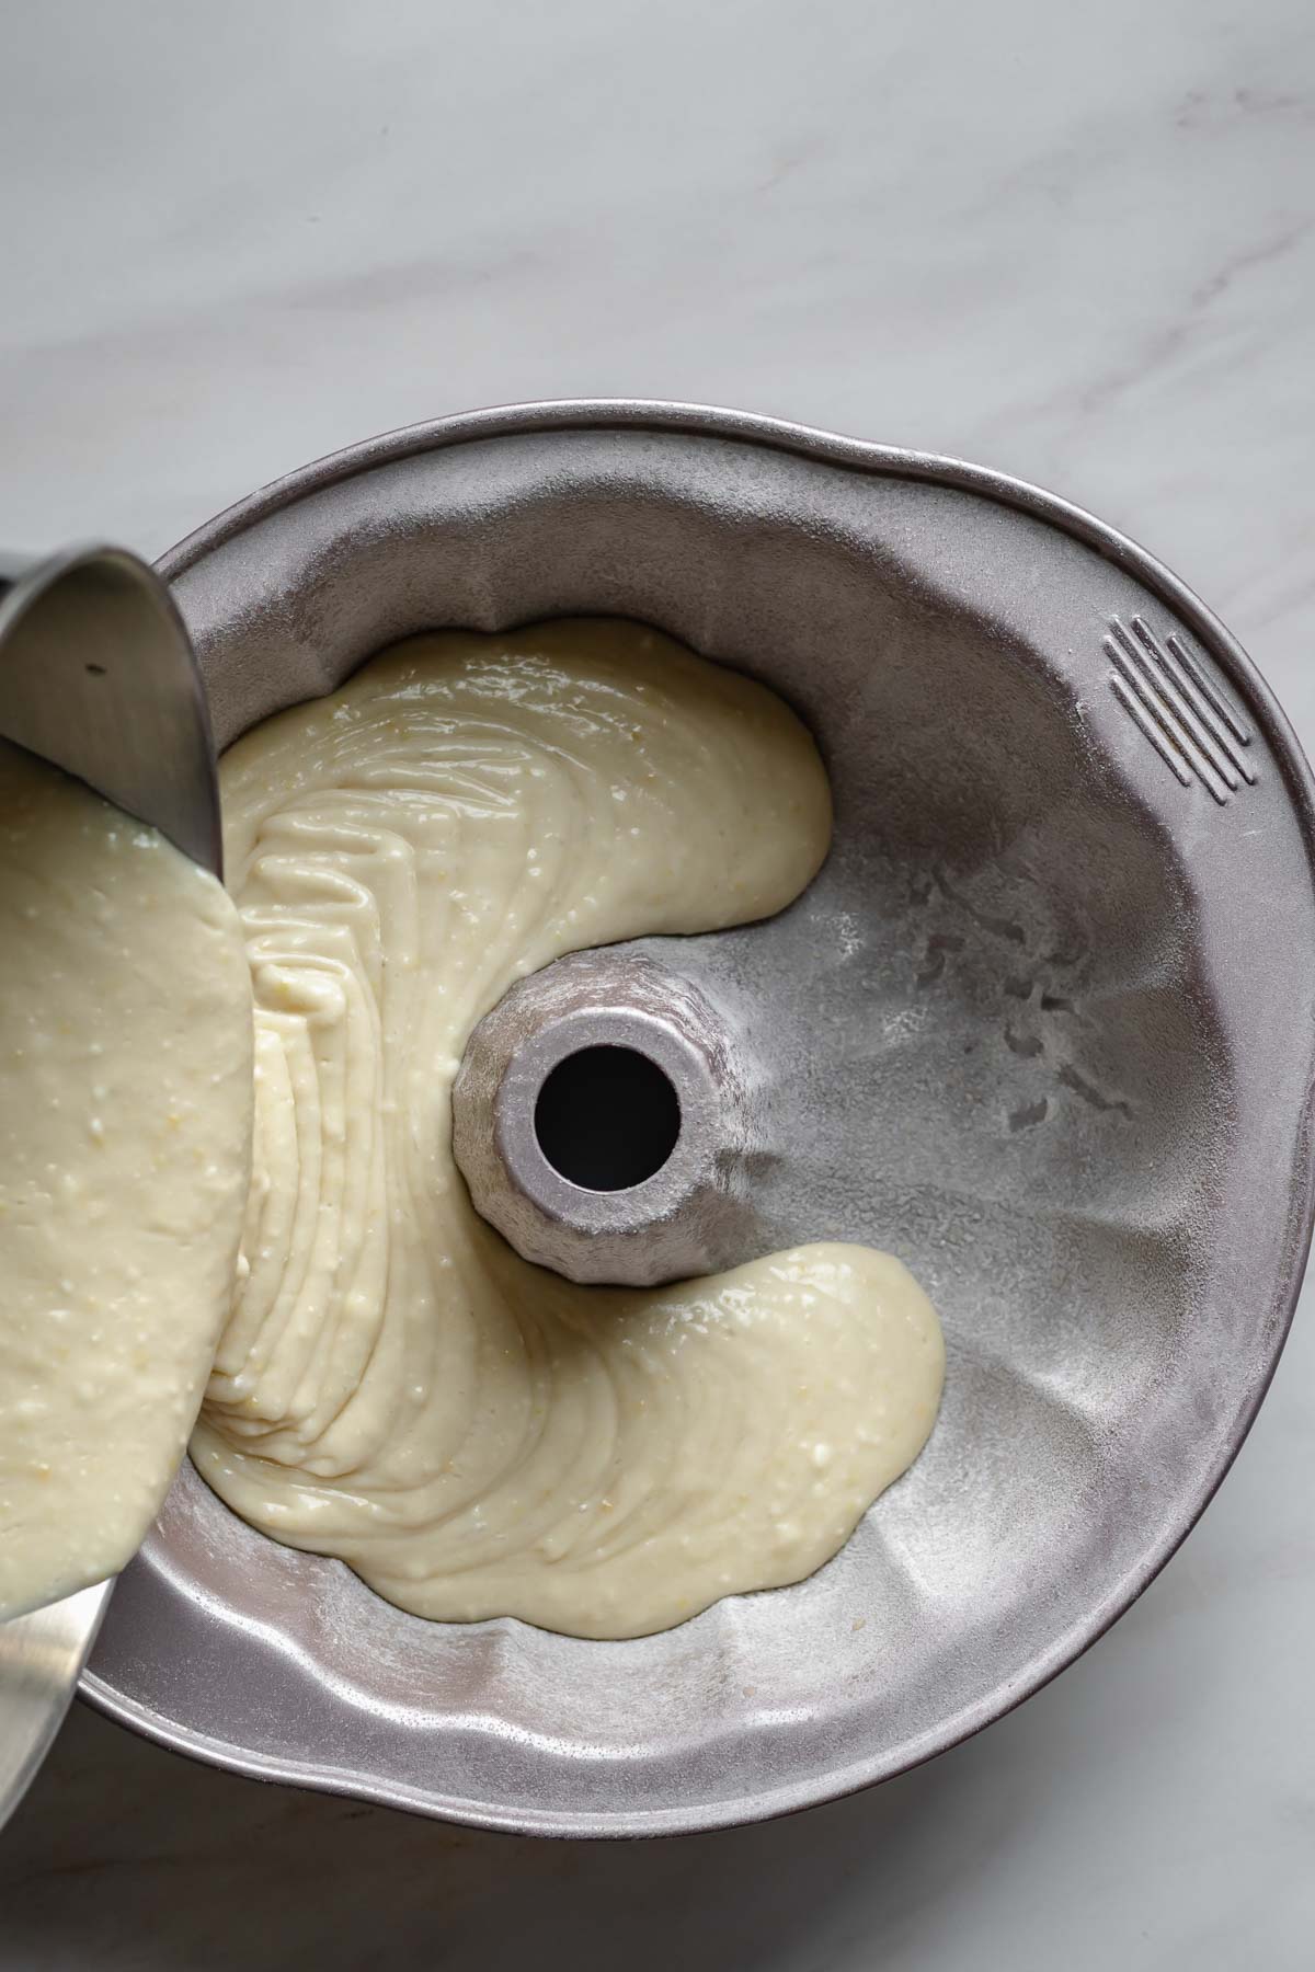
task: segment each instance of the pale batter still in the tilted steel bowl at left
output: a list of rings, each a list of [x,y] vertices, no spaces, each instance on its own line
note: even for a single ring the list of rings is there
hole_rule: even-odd
[[[187,1447],[250,1173],[219,881],[0,741],[0,1617],[136,1552]]]

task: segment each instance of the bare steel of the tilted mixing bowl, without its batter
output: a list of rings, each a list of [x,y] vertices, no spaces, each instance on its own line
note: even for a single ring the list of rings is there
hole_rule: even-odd
[[[168,588],[126,548],[0,556],[0,736],[223,874],[197,661]],[[59,1729],[110,1587],[0,1623],[0,1828]]]

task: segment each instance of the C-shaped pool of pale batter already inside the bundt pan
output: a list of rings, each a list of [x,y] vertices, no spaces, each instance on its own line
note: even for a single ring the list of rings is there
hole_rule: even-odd
[[[479,1219],[450,1112],[513,980],[804,889],[804,728],[637,623],[554,621],[396,645],[221,777],[256,1140],[203,1477],[424,1617],[635,1637],[808,1576],[933,1428],[917,1282],[828,1244],[574,1286]]]

